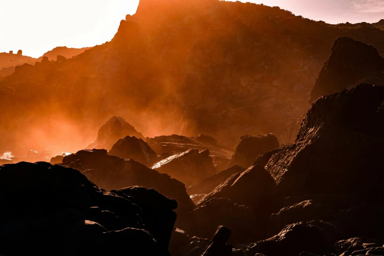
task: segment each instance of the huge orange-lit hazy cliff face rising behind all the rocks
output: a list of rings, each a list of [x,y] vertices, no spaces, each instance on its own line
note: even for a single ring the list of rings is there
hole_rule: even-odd
[[[252,3],[142,0],[111,42],[1,78],[9,122],[0,129],[19,140],[28,119],[60,144],[54,129],[41,125],[60,117],[90,141],[119,115],[148,136],[204,132],[233,146],[244,134],[279,137],[307,111],[340,36],[384,53],[384,31],[368,24],[328,25]]]

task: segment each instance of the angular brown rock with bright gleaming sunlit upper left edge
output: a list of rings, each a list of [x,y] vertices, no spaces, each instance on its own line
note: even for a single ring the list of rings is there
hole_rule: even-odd
[[[171,155],[152,166],[159,173],[166,173],[184,184],[191,185],[216,173],[209,150],[187,150]]]

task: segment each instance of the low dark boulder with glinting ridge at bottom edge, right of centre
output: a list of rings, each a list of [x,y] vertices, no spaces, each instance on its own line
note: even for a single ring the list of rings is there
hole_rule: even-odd
[[[334,252],[333,244],[341,235],[328,222],[299,222],[286,226],[269,239],[250,244],[248,249],[252,255],[261,253],[267,256],[298,256],[302,252],[325,255]]]

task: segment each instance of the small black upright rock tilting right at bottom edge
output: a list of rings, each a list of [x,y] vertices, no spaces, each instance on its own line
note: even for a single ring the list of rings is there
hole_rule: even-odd
[[[230,234],[227,227],[218,227],[203,256],[231,256],[232,246],[227,244]]]

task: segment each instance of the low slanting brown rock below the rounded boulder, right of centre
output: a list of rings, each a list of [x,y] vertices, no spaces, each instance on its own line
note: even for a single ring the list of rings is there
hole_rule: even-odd
[[[187,187],[187,192],[189,195],[194,194],[208,194],[213,189],[215,189],[222,182],[226,181],[230,176],[236,173],[242,173],[245,169],[239,165],[234,165],[224,171],[206,177],[199,182],[196,182],[189,187]]]

